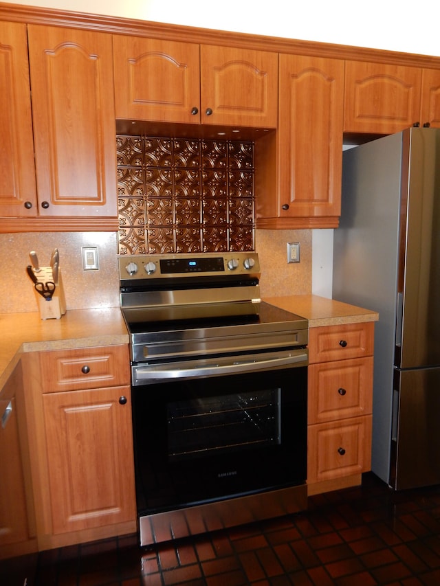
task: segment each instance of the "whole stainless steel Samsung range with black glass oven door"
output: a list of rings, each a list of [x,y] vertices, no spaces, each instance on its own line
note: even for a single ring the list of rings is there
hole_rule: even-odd
[[[307,319],[256,253],[121,256],[140,542],[307,507]]]

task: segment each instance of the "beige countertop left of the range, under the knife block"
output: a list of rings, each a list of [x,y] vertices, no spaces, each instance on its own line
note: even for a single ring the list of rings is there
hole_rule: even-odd
[[[129,343],[119,307],[68,310],[61,319],[0,314],[0,391],[22,352]]]

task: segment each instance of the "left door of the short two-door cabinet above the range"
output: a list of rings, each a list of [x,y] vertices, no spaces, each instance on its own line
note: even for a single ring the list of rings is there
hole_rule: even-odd
[[[199,45],[113,36],[116,117],[200,123]]]

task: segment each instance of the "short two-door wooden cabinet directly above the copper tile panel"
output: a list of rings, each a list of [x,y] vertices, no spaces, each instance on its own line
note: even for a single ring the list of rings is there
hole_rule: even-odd
[[[278,55],[113,37],[116,117],[276,127]]]

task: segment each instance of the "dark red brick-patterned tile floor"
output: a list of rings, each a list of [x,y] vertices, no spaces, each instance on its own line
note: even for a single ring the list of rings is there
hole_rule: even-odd
[[[5,583],[6,584],[6,583]],[[39,555],[29,586],[440,584],[440,486],[317,495],[297,515],[141,550],[134,535]],[[12,586],[12,582],[8,583]],[[21,586],[21,585],[20,585]]]

